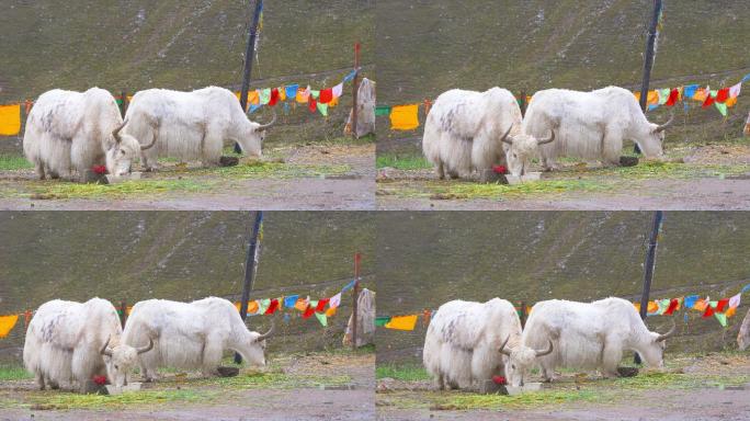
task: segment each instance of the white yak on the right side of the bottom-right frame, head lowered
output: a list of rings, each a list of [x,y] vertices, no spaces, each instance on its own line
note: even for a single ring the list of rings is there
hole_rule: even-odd
[[[523,330],[523,344],[539,346],[552,340],[554,351],[537,360],[542,375],[553,380],[556,367],[594,369],[617,376],[623,352],[632,350],[650,365],[662,367],[664,340],[674,334],[651,332],[632,303],[605,298],[593,303],[560,299],[539,301]]]

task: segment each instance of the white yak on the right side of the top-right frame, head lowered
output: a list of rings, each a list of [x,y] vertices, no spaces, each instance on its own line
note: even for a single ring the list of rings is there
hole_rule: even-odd
[[[557,157],[578,157],[620,163],[623,140],[638,144],[646,158],[663,156],[664,129],[674,116],[662,125],[649,123],[636,98],[626,89],[609,87],[592,92],[547,89],[532,96],[522,132],[542,136],[554,130],[557,140],[539,145],[542,167],[555,169]],[[533,158],[527,155],[525,159]]]

